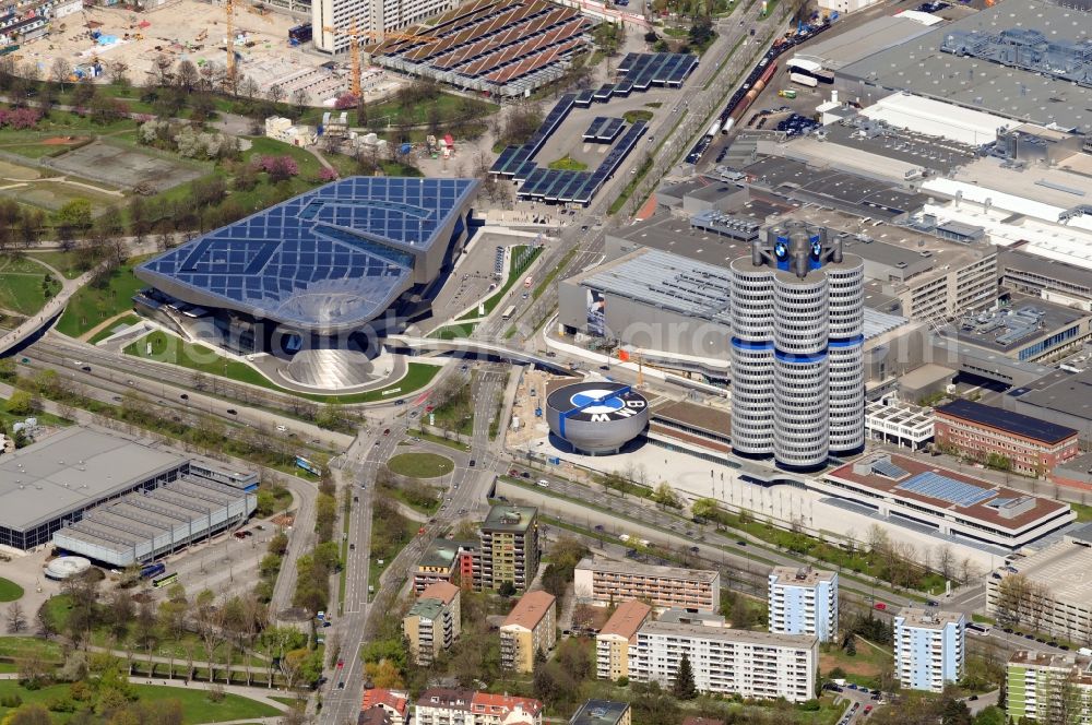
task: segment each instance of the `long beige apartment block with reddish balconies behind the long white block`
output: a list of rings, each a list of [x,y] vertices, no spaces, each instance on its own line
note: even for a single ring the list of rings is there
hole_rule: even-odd
[[[580,601],[600,605],[644,599],[656,609],[721,608],[721,574],[716,571],[585,558],[577,564],[573,587]]]

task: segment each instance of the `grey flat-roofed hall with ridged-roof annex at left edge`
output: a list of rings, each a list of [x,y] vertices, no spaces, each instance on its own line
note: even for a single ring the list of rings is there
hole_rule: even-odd
[[[0,544],[50,542],[124,567],[245,521],[257,475],[92,428],[61,430],[0,460]],[[222,482],[234,482],[222,483]]]

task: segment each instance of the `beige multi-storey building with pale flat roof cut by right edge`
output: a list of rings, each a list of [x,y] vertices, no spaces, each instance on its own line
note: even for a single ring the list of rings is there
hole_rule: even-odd
[[[1092,642],[1092,524],[986,579],[986,614],[1070,642]]]

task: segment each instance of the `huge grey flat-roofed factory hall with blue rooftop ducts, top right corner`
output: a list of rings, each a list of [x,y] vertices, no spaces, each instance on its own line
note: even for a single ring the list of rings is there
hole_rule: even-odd
[[[1081,41],[1087,14],[1040,0],[998,3],[836,70],[839,95],[869,106],[891,90],[968,109],[1092,133],[1092,87],[1044,72]],[[1049,41],[1041,33],[1049,33]],[[1017,48],[1026,48],[1018,54]],[[1083,51],[1075,49],[1081,57]],[[1020,56],[1020,60],[1016,60]],[[1026,59],[1026,62],[1024,62]],[[1059,62],[1071,72],[1081,62]],[[1065,98],[1063,103],[1048,103]]]

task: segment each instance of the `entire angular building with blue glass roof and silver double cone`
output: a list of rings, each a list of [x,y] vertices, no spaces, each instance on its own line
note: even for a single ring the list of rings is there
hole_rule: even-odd
[[[376,352],[367,333],[429,311],[466,241],[478,183],[333,181],[140,264],[153,289],[135,301],[187,337],[290,355],[284,373],[297,382],[367,382]]]

